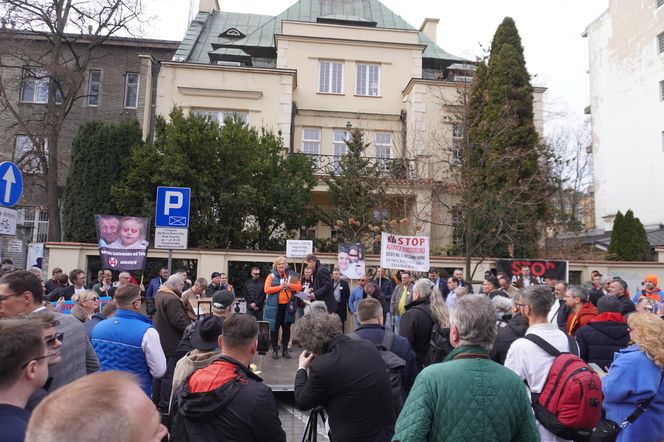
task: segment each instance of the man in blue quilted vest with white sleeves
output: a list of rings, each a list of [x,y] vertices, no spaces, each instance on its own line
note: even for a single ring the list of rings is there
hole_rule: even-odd
[[[159,333],[152,328],[152,321],[140,313],[138,286],[120,287],[115,302],[118,305],[115,316],[101,321],[92,330],[92,346],[102,370],[134,373],[145,394],[151,396],[153,378],[160,378],[166,371]]]

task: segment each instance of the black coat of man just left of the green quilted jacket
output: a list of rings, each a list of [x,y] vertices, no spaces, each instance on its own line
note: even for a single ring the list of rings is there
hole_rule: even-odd
[[[422,370],[424,367],[434,324],[429,299],[418,299],[411,302],[406,306],[406,313],[401,317],[399,334],[408,339],[410,346],[413,347],[418,370]]]

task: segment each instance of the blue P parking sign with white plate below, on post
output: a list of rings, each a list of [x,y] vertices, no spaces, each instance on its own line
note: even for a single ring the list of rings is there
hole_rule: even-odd
[[[168,273],[171,273],[173,249],[186,249],[189,236],[188,187],[157,187],[157,211],[155,214],[156,249],[168,249]]]

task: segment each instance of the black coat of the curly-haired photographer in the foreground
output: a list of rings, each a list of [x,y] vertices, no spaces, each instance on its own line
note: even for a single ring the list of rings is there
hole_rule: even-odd
[[[389,441],[396,417],[383,358],[367,341],[332,339],[326,353],[295,375],[295,402],[302,410],[322,405],[333,442]]]

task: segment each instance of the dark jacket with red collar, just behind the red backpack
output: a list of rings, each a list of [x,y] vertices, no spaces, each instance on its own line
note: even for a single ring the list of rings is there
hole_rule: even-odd
[[[614,313],[615,314],[615,313]],[[602,321],[606,313],[593,319],[576,331],[576,342],[579,344],[579,356],[586,362],[594,362],[602,369],[611,366],[613,355],[621,348],[627,347],[629,331],[627,323],[615,320]]]

